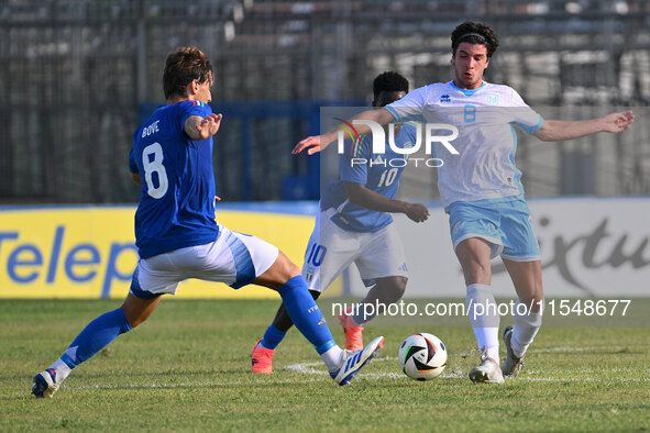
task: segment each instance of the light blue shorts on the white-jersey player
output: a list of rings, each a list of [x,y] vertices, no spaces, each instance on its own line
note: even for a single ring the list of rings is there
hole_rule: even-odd
[[[541,259],[530,210],[522,197],[455,201],[444,211],[449,213],[454,251],[464,240],[481,237],[492,244],[491,258],[500,255],[515,262]]]

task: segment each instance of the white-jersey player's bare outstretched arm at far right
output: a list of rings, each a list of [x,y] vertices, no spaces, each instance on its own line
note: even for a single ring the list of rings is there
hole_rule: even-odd
[[[579,138],[597,132],[617,133],[630,127],[634,121],[635,113],[631,110],[609,113],[603,118],[590,120],[546,120],[542,127],[535,133],[535,136],[544,142],[559,142]]]

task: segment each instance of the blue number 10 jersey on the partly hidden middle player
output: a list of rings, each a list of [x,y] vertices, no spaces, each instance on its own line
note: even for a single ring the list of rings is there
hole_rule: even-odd
[[[395,146],[409,148],[416,143],[416,126],[406,122],[395,136]],[[363,184],[366,188],[389,199],[395,198],[399,177],[407,165],[406,156],[386,145],[385,154],[373,154],[371,134],[361,141],[345,142],[345,152],[340,155],[339,179],[328,186],[321,199],[321,210],[334,209],[332,221],[341,229],[352,232],[376,232],[393,222],[387,212],[372,211],[350,202],[343,181]]]

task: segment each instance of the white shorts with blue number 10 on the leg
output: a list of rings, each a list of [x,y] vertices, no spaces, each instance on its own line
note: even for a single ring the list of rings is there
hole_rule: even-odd
[[[302,265],[302,277],[309,290],[323,292],[353,263],[366,287],[374,285],[377,278],[408,278],[406,256],[395,224],[377,232],[350,232],[334,224],[327,211],[321,212]]]

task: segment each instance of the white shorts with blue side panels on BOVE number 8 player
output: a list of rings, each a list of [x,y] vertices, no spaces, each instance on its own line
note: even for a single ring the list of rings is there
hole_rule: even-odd
[[[131,292],[142,299],[176,293],[188,278],[225,282],[239,289],[264,274],[277,258],[276,246],[219,226],[212,243],[188,246],[137,262]]]

